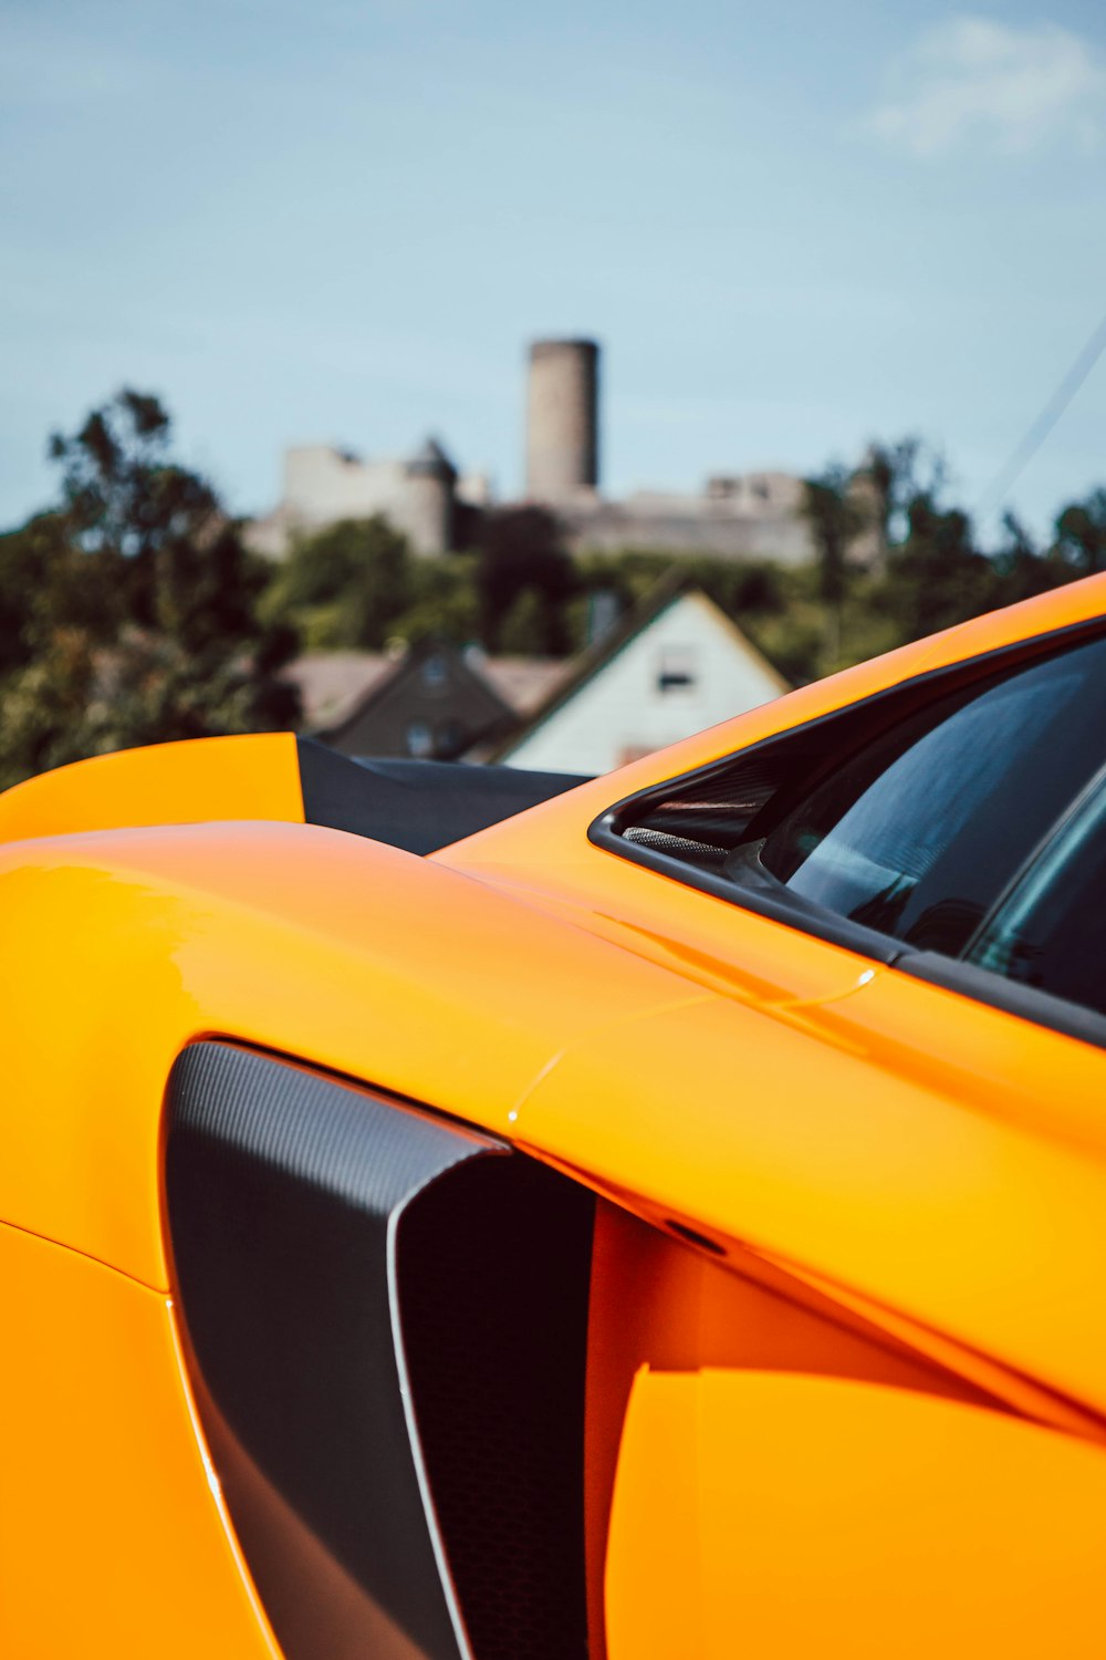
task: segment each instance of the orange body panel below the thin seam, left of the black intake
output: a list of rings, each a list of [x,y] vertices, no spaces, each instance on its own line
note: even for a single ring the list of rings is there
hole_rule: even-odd
[[[274,1660],[163,1295],[0,1225],[0,1653]]]

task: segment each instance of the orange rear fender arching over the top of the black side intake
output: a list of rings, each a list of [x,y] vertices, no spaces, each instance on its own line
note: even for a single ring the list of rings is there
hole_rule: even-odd
[[[227,1034],[511,1134],[587,1031],[695,996],[675,974],[395,848],[227,823],[0,847],[18,1041],[0,1218],[159,1290],[174,1057]]]

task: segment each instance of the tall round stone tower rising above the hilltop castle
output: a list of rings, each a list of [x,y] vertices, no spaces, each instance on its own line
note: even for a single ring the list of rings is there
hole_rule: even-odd
[[[599,485],[599,347],[536,340],[526,407],[526,495],[570,501]]]

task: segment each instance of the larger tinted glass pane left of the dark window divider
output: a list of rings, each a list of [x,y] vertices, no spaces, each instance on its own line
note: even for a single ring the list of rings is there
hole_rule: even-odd
[[[803,900],[958,953],[1101,765],[1104,717],[1106,639],[960,691],[839,767],[759,862]]]

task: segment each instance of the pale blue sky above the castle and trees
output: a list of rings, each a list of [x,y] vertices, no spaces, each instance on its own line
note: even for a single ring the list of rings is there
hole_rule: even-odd
[[[235,513],[428,433],[511,496],[589,335],[609,495],[917,433],[993,533],[1104,196],[1101,0],[0,0],[0,526],[121,385]],[[1106,357],[1002,505],[1099,483]]]

